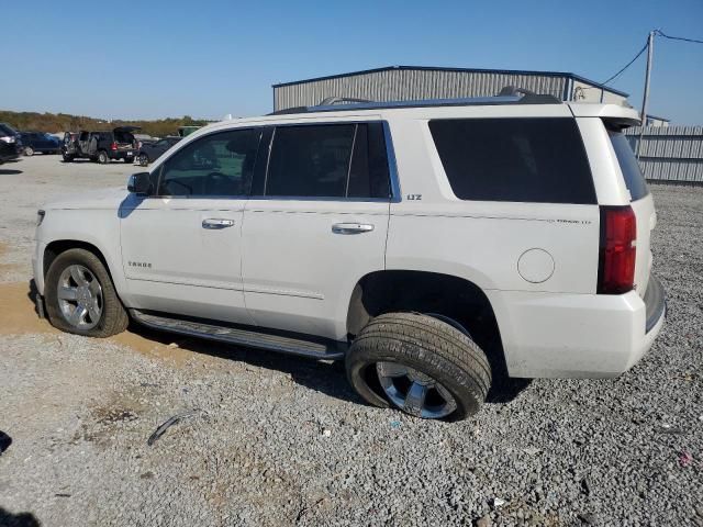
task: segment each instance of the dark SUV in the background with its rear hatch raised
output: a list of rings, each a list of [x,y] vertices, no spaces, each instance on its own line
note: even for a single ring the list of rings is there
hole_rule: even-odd
[[[137,153],[133,132],[137,130],[140,130],[138,126],[118,126],[112,132],[83,130],[78,135],[66,132],[62,145],[64,161],[70,162],[74,159],[83,158],[101,165],[109,162],[110,159],[132,162]]]

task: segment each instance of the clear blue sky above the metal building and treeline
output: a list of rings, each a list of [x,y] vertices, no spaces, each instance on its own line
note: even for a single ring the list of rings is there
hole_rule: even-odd
[[[0,15],[0,110],[123,120],[257,115],[276,82],[393,65],[603,81],[652,29],[703,40],[703,0],[30,4]],[[654,49],[649,113],[703,125],[703,44],[657,37]],[[635,108],[645,55],[611,85]]]

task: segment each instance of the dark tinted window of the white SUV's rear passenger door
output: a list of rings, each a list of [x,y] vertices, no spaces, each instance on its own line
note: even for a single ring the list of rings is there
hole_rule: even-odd
[[[381,123],[277,127],[266,195],[389,198]]]

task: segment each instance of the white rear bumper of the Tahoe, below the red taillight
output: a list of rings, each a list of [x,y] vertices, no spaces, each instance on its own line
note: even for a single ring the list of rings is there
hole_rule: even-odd
[[[525,378],[609,378],[632,368],[661,330],[663,288],[620,295],[487,292],[507,370]]]

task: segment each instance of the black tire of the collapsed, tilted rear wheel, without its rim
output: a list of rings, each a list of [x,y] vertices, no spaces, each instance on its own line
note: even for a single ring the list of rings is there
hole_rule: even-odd
[[[361,329],[346,356],[347,379],[356,392],[372,405],[388,407],[390,400],[380,388],[377,362],[397,362],[440,383],[456,402],[456,410],[443,417],[448,421],[476,414],[492,382],[486,354],[468,335],[416,313],[377,316]]]

